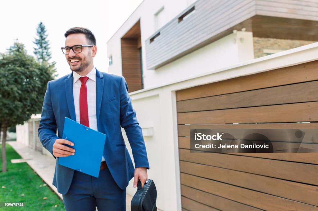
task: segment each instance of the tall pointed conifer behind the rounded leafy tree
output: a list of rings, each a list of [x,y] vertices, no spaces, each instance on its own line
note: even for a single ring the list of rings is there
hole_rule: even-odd
[[[52,58],[49,47],[50,43],[47,40],[45,25],[42,22],[38,24],[37,36],[38,38],[35,38],[35,41],[33,42],[37,45],[37,47],[34,48],[33,53],[40,63],[46,65],[49,69],[55,72],[54,66],[56,62],[53,61],[52,63],[49,63],[49,60]]]

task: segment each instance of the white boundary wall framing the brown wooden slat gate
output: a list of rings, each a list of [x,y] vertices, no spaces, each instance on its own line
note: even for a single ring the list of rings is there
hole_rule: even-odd
[[[145,143],[149,178],[154,180],[158,189],[158,208],[181,211],[176,90],[314,60],[318,60],[318,42],[130,93],[141,126],[154,129],[154,135],[145,137]],[[131,187],[132,181],[127,189],[129,194],[134,193]]]

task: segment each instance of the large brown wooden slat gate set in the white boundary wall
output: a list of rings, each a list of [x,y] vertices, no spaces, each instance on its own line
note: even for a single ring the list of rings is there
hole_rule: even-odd
[[[176,92],[181,194],[188,207],[245,210],[219,206],[220,197],[251,209],[318,210],[317,153],[190,153],[190,129],[317,129],[317,69],[312,61]],[[271,135],[275,144],[300,142]],[[316,146],[318,134],[305,136],[302,147]]]

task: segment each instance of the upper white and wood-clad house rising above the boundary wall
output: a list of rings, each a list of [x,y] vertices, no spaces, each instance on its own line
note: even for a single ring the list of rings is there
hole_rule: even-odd
[[[144,0],[107,42],[130,92],[318,41],[315,1]]]

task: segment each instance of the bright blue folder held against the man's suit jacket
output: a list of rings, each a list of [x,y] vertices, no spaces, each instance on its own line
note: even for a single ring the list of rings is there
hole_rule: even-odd
[[[106,135],[65,117],[63,139],[74,143],[74,155],[59,158],[59,165],[98,177]]]

